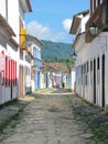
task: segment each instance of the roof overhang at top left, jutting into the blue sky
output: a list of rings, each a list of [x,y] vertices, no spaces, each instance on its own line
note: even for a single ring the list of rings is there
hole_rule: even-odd
[[[32,12],[30,0],[20,0],[20,4],[24,12]]]

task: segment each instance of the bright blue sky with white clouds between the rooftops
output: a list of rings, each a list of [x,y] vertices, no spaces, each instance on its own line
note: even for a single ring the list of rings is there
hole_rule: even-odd
[[[25,14],[28,34],[39,40],[72,43],[73,16],[88,10],[89,0],[30,0],[32,12]]]

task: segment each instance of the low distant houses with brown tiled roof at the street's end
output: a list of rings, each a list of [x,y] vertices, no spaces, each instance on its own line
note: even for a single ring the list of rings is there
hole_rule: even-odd
[[[50,62],[43,64],[45,88],[62,88],[64,81],[67,86],[68,69],[61,63]]]

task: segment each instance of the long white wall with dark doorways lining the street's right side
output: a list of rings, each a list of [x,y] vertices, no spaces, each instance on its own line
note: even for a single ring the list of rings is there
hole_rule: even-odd
[[[77,55],[77,60],[76,60],[76,66],[78,64],[84,65],[85,63],[89,63],[89,71],[87,73],[87,85],[78,85],[78,83],[76,83],[76,92],[82,95],[85,96],[85,99],[87,99],[90,102],[94,102],[94,76],[93,76],[93,72],[90,71],[90,61],[94,63],[94,60],[96,61],[96,104],[101,106],[101,58],[102,54],[105,54],[105,101],[106,104],[108,104],[108,34],[107,32],[101,33],[100,35],[98,35],[96,39],[94,39],[94,41],[91,43],[85,44],[84,48],[80,49],[80,51],[78,52]],[[99,58],[99,66],[100,69],[97,69],[97,61]],[[93,68],[94,70],[94,68]],[[76,75],[77,76],[77,75]],[[83,78],[84,81],[84,78]],[[79,90],[78,90],[79,86]]]

